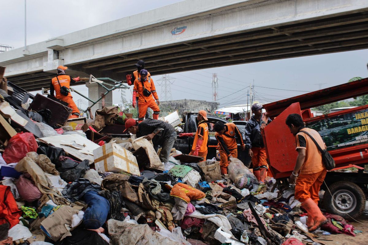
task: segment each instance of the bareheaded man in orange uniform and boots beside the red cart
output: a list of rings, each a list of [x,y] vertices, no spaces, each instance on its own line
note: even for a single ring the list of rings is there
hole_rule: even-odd
[[[286,125],[296,136],[296,150],[298,157],[294,171],[289,178],[290,184],[295,184],[295,199],[301,202],[307,211],[307,226],[314,231],[327,222],[318,208],[319,189],[326,177],[326,167],[322,163],[322,154],[308,135],[310,134],[322,149],[326,148],[319,133],[314,129],[304,127],[303,119],[299,114],[290,114],[286,118]],[[306,134],[307,132],[308,134]]]

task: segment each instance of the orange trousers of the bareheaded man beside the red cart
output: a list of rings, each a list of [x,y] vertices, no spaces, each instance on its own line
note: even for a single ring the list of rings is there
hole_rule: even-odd
[[[318,173],[300,174],[295,185],[295,199],[304,202],[308,198],[318,204],[319,189],[326,177],[327,170],[324,169]]]

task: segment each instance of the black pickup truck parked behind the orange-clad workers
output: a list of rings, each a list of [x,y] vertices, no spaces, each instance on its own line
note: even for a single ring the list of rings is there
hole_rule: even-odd
[[[197,113],[185,113],[182,115],[182,118],[184,123],[182,126],[184,133],[192,133],[197,131]],[[207,159],[212,159],[214,157],[220,159],[220,155],[217,151],[217,140],[215,138],[215,130],[213,129],[213,126],[216,122],[228,123],[228,121],[212,114],[207,114],[207,118],[209,131]],[[243,136],[243,141],[245,141],[244,130],[239,129],[239,131]],[[189,154],[192,149],[193,141],[194,137],[177,137],[174,147],[184,154]],[[247,151],[242,151],[240,144],[238,144],[238,159],[240,159],[243,163],[250,163],[250,157],[248,156]]]

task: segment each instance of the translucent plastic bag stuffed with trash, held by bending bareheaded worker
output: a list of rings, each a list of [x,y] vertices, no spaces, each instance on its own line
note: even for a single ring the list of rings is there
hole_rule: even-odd
[[[229,178],[239,189],[251,188],[254,184],[259,185],[259,181],[247,167],[237,158],[230,158]]]

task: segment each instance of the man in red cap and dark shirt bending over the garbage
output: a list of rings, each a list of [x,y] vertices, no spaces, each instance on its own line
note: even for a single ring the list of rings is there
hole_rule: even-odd
[[[147,140],[152,140],[153,148],[156,152],[161,146],[160,160],[163,163],[169,161],[169,155],[171,148],[176,140],[176,131],[169,123],[161,120],[147,118],[141,123],[138,123],[134,119],[128,119],[125,122],[125,129],[131,134],[135,134],[137,138],[145,136]]]

